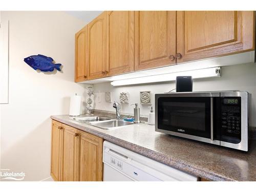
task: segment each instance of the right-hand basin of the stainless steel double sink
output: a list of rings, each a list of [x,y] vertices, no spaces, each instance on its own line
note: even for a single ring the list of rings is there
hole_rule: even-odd
[[[125,125],[132,125],[134,124],[133,122],[128,122],[124,120],[118,120],[118,119],[111,119],[111,120],[106,120],[106,121],[101,121],[101,122],[90,122],[91,125],[97,126],[101,129],[104,130],[110,130],[115,127],[120,127],[120,126],[125,126]]]

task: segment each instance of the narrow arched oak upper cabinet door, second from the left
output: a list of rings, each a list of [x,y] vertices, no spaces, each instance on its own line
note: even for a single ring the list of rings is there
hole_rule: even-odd
[[[89,79],[107,75],[106,71],[106,12],[88,24]]]

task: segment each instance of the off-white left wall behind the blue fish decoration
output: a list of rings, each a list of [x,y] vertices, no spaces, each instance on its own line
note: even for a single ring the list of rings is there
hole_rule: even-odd
[[[0,105],[1,168],[39,181],[50,177],[50,116],[68,114],[72,94],[86,98],[87,85],[74,82],[74,35],[85,24],[50,11],[2,12],[2,20],[10,20],[10,94]],[[23,59],[36,54],[62,63],[62,72],[34,71]]]

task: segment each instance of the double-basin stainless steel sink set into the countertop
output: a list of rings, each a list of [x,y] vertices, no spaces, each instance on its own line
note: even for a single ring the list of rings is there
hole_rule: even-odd
[[[104,130],[111,130],[116,127],[134,124],[133,122],[128,122],[121,119],[114,119],[104,116],[76,117],[73,119],[75,121],[90,124]]]

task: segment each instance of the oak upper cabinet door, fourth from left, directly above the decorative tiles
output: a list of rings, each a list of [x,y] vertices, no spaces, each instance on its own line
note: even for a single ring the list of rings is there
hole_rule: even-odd
[[[135,70],[174,65],[176,11],[136,11]]]

